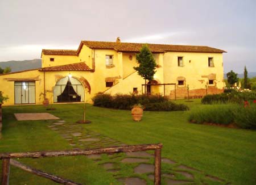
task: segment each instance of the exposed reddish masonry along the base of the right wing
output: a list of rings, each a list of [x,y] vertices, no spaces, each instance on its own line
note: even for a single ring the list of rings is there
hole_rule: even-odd
[[[189,90],[187,87],[178,87],[176,89],[176,99],[186,99],[188,98],[188,93],[189,93],[189,98],[203,98],[203,96],[207,94],[220,94],[223,93],[223,89],[218,89],[217,87],[208,87],[206,89],[192,89]],[[172,90],[170,93],[170,99],[175,99],[175,91]]]

